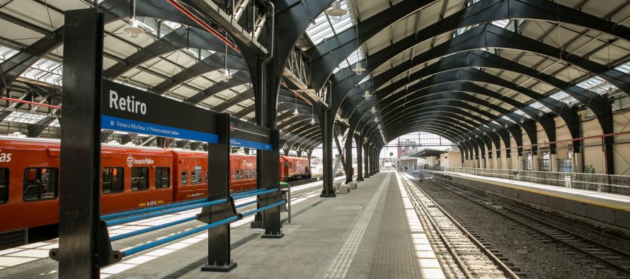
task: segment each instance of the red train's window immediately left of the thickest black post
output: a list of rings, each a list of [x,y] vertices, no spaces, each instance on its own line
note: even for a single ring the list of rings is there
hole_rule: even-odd
[[[24,169],[24,201],[42,201],[57,198],[57,169],[27,167]]]

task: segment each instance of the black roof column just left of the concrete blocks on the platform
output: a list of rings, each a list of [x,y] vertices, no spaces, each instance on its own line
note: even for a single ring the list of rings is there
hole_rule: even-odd
[[[322,198],[334,198],[337,196],[335,189],[333,188],[333,179],[335,179],[335,173],[333,172],[333,124],[334,115],[329,115],[330,112],[324,110],[321,112],[322,121],[322,157],[323,157],[323,188],[321,189]],[[335,170],[336,171],[336,170]]]

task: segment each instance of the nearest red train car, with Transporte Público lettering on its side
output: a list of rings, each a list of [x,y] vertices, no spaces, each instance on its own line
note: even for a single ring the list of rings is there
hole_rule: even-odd
[[[168,150],[101,147],[101,214],[173,201]],[[0,231],[59,220],[59,141],[0,137]]]

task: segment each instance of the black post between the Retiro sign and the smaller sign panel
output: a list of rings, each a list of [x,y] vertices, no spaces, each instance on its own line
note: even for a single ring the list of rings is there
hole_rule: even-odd
[[[217,144],[208,144],[208,201],[229,197],[229,114],[217,114]],[[234,216],[233,201],[204,208],[201,215],[209,219],[205,222],[217,222]],[[208,260],[201,271],[227,272],[236,267],[230,254],[229,223],[208,230]]]

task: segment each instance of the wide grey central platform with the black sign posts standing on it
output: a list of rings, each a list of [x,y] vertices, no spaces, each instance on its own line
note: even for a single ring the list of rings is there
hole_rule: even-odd
[[[125,257],[101,269],[102,278],[444,278],[428,239],[395,172],[381,172],[349,194],[320,198],[321,182],[293,190],[292,222],[287,213],[285,237],[263,239],[261,230],[251,229],[244,219],[231,224],[231,255],[237,267],[229,273],[200,271],[207,257],[207,233],[202,232],[155,249]],[[185,216],[194,213],[182,213]],[[182,216],[183,217],[183,216]],[[173,218],[173,217],[169,217]],[[168,220],[144,220],[150,225]],[[196,221],[195,221],[196,222]],[[135,229],[112,227],[111,235]],[[197,226],[197,224],[193,224]],[[190,229],[180,225],[167,233]],[[151,242],[162,233],[113,242],[126,249]],[[41,244],[22,253],[0,256],[0,277],[57,278],[57,263],[47,259]],[[40,249],[41,248],[41,249]],[[14,251],[18,253],[19,251]],[[31,260],[29,254],[38,253]],[[8,261],[21,261],[2,266]],[[24,259],[26,258],[26,259]]]

